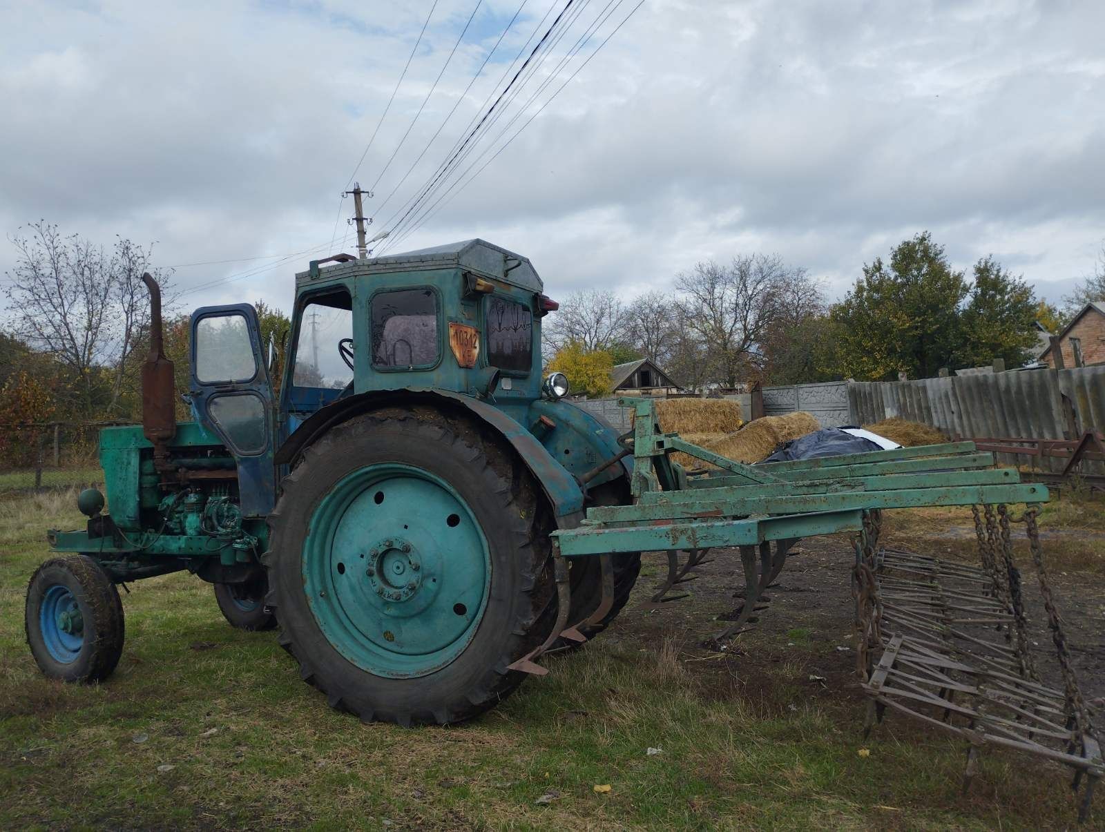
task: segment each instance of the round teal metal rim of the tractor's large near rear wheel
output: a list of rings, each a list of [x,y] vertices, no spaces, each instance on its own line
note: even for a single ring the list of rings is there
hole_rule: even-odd
[[[423,468],[381,463],[319,502],[304,544],[307,602],[327,640],[380,676],[423,676],[475,635],[491,583],[467,503]]]

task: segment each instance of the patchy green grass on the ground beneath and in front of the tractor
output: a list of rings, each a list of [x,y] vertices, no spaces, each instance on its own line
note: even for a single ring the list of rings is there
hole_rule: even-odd
[[[23,589],[48,556],[43,529],[80,525],[73,504],[72,493],[0,503],[3,829],[1073,821],[1059,773],[1040,777],[1024,758],[988,755],[964,797],[961,744],[906,720],[861,744],[854,692],[808,695],[803,626],[774,634],[797,645],[786,661],[750,664],[681,647],[682,633],[659,647],[634,638],[644,618],[628,610],[620,640],[552,657],[548,676],[485,717],[404,730],[330,710],[272,633],[230,629],[208,584],[172,575],[124,596],[127,643],[110,681],[53,683],[23,643]],[[857,754],[863,747],[870,756]],[[540,804],[543,796],[555,797]]]

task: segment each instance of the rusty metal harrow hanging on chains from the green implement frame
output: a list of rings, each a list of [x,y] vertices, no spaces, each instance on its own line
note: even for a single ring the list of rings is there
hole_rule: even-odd
[[[1078,819],[1085,820],[1105,763],[1048,581],[1038,508],[1029,504],[1020,522],[1055,646],[1060,686],[1045,684],[1031,651],[1008,506],[975,505],[971,510],[980,566],[881,547],[877,513],[855,538],[857,672],[871,697],[864,736],[890,707],[962,737],[969,743],[965,791],[987,747],[1069,766],[1074,769],[1072,789],[1076,794],[1081,789]]]

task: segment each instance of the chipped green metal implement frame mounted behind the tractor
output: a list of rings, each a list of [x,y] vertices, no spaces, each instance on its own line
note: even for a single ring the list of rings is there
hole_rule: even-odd
[[[620,403],[634,411],[635,503],[590,508],[581,526],[554,533],[564,557],[757,546],[859,531],[865,513],[883,508],[1048,499],[972,442],[744,465],[664,433],[651,400]],[[676,451],[717,470],[688,475],[671,462]]]

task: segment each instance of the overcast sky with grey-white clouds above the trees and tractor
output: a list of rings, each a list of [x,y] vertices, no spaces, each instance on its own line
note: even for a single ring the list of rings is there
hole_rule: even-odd
[[[156,241],[186,307],[288,308],[309,257],[354,249],[354,178],[391,251],[483,236],[554,296],[632,296],[753,251],[839,296],[924,229],[956,265],[992,252],[1052,299],[1095,266],[1098,0],[644,0],[597,52],[636,0],[575,0],[397,227],[567,0],[519,2],[0,0],[0,229]],[[13,260],[0,239],[0,273]]]

